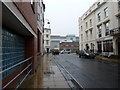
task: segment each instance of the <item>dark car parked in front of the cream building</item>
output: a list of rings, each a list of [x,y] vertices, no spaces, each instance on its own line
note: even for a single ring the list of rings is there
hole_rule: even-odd
[[[86,58],[95,58],[95,54],[90,52],[89,50],[80,50],[79,58],[82,56]]]

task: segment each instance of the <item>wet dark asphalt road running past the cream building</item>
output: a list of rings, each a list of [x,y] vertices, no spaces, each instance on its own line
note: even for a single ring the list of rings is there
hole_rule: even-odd
[[[83,88],[118,88],[118,64],[96,59],[79,58],[74,54],[55,55],[54,59],[83,86]]]

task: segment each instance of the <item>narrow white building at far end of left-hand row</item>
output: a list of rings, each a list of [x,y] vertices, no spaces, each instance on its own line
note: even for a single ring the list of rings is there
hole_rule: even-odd
[[[51,29],[44,28],[44,53],[50,52],[51,46]]]

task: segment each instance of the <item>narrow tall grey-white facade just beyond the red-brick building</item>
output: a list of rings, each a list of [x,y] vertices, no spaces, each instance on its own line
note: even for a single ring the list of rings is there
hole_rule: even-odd
[[[43,0],[39,0],[37,2],[37,29],[38,29],[38,52],[43,55],[44,51],[44,12],[45,12],[45,5]]]

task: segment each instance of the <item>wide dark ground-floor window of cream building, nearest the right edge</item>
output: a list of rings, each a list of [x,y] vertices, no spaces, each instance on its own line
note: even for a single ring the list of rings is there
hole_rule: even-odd
[[[104,52],[113,52],[113,42],[112,42],[112,40],[103,41],[103,51]]]

